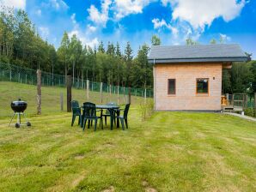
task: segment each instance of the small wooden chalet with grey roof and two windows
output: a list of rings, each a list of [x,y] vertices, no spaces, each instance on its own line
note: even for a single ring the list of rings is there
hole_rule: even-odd
[[[152,46],[155,110],[221,111],[222,69],[246,61],[240,45]]]

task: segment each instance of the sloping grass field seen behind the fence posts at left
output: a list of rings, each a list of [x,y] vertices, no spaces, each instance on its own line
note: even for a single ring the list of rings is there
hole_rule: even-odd
[[[43,115],[61,113],[60,108],[60,94],[63,94],[64,111],[66,111],[67,90],[65,87],[42,87],[41,91],[41,112]],[[33,85],[21,84],[17,82],[0,81],[0,117],[7,117],[13,113],[10,108],[10,103],[13,100],[21,98],[27,101],[27,115],[34,115],[37,113],[37,87]],[[89,92],[89,99],[87,99],[87,92],[84,89],[72,88],[72,99],[76,99],[82,105],[83,102],[89,100],[96,104],[101,104],[101,95],[99,92]],[[142,97],[131,96],[132,104],[139,104],[143,100]],[[118,95],[110,93],[102,93],[102,103],[107,102],[118,103]],[[119,104],[128,102],[127,94],[119,94]]]

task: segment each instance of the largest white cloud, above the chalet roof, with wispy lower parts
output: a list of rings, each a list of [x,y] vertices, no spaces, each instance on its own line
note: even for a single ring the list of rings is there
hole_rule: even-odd
[[[198,40],[205,27],[222,17],[224,21],[231,21],[239,16],[241,9],[247,3],[246,0],[161,0],[162,6],[172,10],[172,20],[152,20],[154,28],[161,30],[162,27],[169,28],[174,37],[173,43],[185,42],[187,38]],[[224,41],[230,37],[220,34]]]

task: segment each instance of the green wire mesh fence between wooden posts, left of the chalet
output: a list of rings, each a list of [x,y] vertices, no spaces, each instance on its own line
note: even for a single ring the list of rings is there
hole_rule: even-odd
[[[0,117],[11,115],[10,102],[21,98],[27,101],[26,112],[36,114],[37,108],[36,70],[0,63]],[[102,84],[102,91],[101,91]],[[88,88],[87,88],[88,85]],[[42,114],[66,111],[65,76],[41,72]],[[128,102],[129,87],[109,85],[79,78],[72,79],[72,99],[82,104],[91,101],[96,104]],[[131,87],[131,104],[140,104],[144,99],[153,98],[152,89]]]

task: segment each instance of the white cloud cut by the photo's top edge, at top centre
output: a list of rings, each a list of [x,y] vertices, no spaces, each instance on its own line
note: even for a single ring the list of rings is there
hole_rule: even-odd
[[[149,3],[155,2],[154,0],[114,0],[115,3],[115,17],[121,19],[126,15],[141,14],[143,8]]]

